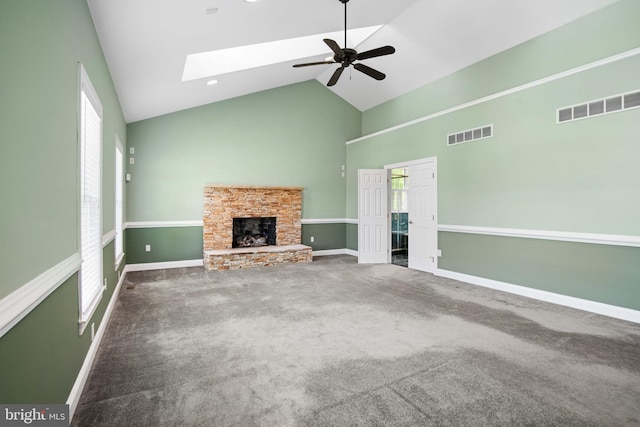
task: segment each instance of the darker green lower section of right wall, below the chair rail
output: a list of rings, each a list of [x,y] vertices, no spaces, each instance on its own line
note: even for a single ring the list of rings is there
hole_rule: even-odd
[[[640,248],[460,233],[438,238],[438,266],[445,270],[640,310]]]

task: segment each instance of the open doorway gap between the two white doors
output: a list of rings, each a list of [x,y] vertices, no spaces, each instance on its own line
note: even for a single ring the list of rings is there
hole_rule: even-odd
[[[391,263],[409,266],[409,175],[407,168],[391,169]]]

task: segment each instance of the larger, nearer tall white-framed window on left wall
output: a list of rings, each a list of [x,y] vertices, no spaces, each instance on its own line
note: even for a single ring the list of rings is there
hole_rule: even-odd
[[[102,297],[102,105],[80,65],[80,332]]]

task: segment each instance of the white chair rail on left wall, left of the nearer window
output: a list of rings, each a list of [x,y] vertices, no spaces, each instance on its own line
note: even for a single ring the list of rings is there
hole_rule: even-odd
[[[75,253],[0,300],[0,337],[80,269]]]

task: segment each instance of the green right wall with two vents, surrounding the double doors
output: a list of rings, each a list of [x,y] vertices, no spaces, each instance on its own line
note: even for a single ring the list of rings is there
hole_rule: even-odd
[[[640,2],[616,3],[364,112],[363,132],[638,48],[638,16]],[[347,217],[357,218],[358,169],[435,156],[440,224],[640,235],[640,109],[555,118],[559,107],[640,89],[638,75],[635,56],[349,144]],[[448,134],[487,124],[494,137],[446,145]],[[637,248],[439,238],[440,268],[640,308]],[[357,231],[347,241],[357,247]]]

